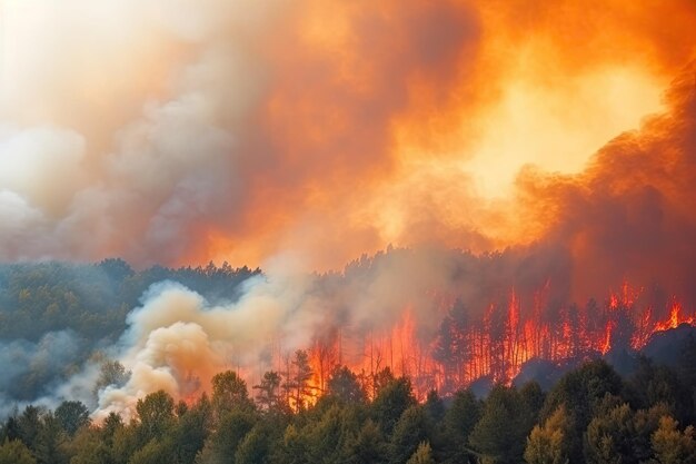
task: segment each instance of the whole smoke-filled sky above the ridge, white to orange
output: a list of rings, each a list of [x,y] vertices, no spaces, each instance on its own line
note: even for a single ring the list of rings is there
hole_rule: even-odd
[[[0,0],[0,16],[3,260],[327,269],[388,244],[545,238],[587,263],[622,244],[626,267],[693,237],[692,0]]]

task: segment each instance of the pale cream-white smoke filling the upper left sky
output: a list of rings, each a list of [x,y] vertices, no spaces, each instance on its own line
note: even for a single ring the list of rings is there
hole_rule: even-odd
[[[0,258],[172,263],[233,216],[265,3],[6,4]]]

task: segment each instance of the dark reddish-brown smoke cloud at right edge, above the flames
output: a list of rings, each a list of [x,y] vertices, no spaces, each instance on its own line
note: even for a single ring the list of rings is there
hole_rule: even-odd
[[[518,179],[531,220],[550,223],[539,241],[571,256],[577,299],[628,282],[694,302],[695,78],[693,65],[684,69],[666,93],[668,110],[612,140],[583,174]]]

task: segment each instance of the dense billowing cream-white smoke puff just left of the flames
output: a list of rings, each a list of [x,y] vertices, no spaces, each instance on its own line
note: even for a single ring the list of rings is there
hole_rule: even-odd
[[[130,378],[123,386],[99,392],[96,416],[116,411],[130,417],[137,399],[157,389],[177,398],[198,395],[226,368],[270,368],[264,353],[284,334],[295,334],[287,342],[288,349],[306,343],[304,337],[296,338],[310,332],[301,326],[301,318],[288,324],[291,306],[299,304],[299,286],[274,285],[264,278],[245,285],[242,298],[226,306],[210,305],[179,284],[153,286],[142,306],[129,315],[129,329],[117,353]]]

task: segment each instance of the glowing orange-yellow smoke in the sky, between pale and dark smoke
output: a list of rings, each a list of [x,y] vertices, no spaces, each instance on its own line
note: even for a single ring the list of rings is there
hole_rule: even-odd
[[[326,268],[389,243],[484,250],[538,236],[487,197],[511,192],[530,162],[581,170],[657,111],[693,52],[696,12],[655,7],[674,18],[666,33],[654,8],[523,3],[306,2],[266,49],[251,216],[202,259],[296,249]]]

